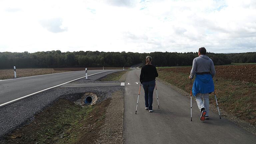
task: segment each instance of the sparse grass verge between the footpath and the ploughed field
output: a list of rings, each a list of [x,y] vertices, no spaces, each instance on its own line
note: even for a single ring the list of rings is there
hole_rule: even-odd
[[[158,69],[159,78],[190,92],[188,73]],[[193,82],[193,80],[192,80]],[[256,84],[241,80],[214,78],[216,96],[221,109],[256,125]],[[210,94],[210,103],[215,104],[214,94]]]

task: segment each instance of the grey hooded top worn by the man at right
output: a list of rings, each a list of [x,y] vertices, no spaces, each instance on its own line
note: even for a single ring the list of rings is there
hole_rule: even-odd
[[[198,72],[211,72],[212,77],[214,77],[216,71],[212,59],[206,55],[200,55],[199,57],[194,58],[190,78],[194,78],[195,74]]]

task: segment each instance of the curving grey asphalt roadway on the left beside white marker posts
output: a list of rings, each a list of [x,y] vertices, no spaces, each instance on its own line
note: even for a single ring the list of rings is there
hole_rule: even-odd
[[[88,70],[87,74],[106,71],[111,70]],[[0,81],[0,105],[84,76],[85,71],[74,71]]]

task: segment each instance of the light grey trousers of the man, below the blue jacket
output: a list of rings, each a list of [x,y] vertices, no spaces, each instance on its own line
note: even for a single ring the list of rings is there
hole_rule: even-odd
[[[197,103],[197,106],[198,106],[199,110],[201,111],[201,108],[204,108],[205,111],[206,111],[205,116],[208,116],[208,113],[209,113],[209,93],[205,93],[205,94],[198,93],[195,96],[195,98],[196,98],[196,103]]]

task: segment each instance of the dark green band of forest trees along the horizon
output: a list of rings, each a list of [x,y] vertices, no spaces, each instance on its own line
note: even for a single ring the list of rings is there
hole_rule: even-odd
[[[0,69],[17,68],[59,68],[59,67],[130,67],[144,63],[145,57],[150,55],[155,66],[187,66],[192,65],[197,52],[0,52]],[[231,64],[231,62],[256,62],[256,52],[239,54],[207,53],[215,65]]]

